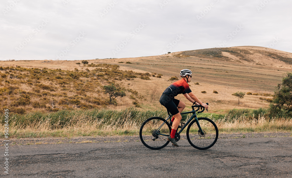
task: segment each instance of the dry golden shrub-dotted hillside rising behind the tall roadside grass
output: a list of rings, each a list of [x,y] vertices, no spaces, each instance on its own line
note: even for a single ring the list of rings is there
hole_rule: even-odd
[[[233,47],[151,57],[93,59],[86,65],[81,61],[0,61],[0,107],[17,113],[120,110],[135,106],[140,106],[140,110],[164,109],[159,97],[173,82],[169,79],[179,77],[181,69],[189,68],[194,73],[190,88],[201,101],[210,103],[211,112],[265,108],[286,71],[292,71],[291,59],[288,52]],[[108,96],[102,91],[102,86],[112,83],[126,92],[125,97],[116,99],[115,105],[109,105]],[[237,98],[232,96],[237,91],[252,95],[245,95],[238,105]],[[177,98],[190,107],[191,103],[183,96]]]

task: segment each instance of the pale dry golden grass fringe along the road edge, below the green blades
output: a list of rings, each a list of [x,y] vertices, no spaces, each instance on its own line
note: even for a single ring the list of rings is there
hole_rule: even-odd
[[[76,136],[97,136],[97,135],[138,135],[140,122],[134,121],[131,112],[124,118],[116,118],[112,124],[105,119],[88,118],[86,113],[75,115],[67,123],[67,126],[61,128],[60,122],[51,124],[50,116],[42,121],[36,121],[28,126],[19,125],[12,122],[9,125],[9,138],[27,138],[27,137],[76,137]],[[214,118],[209,117],[215,120]],[[143,118],[141,118],[142,120]],[[263,115],[258,118],[246,119],[244,116],[233,118],[221,118],[215,120],[220,133],[247,133],[247,132],[291,132],[291,118],[268,119]],[[60,121],[60,120],[59,120]],[[123,124],[121,124],[123,123]],[[4,124],[0,126],[1,135],[4,131]]]

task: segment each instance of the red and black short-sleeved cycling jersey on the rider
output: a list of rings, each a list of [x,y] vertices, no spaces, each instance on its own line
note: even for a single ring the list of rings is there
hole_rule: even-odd
[[[189,84],[185,81],[185,79],[178,80],[167,87],[163,94],[166,95],[173,95],[173,97],[177,96],[178,94],[186,94],[192,92]]]

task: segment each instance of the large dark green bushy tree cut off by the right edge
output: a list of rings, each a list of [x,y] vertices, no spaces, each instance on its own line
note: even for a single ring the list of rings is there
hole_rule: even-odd
[[[272,117],[292,117],[292,73],[286,74],[282,83],[278,84],[270,105],[270,114]]]

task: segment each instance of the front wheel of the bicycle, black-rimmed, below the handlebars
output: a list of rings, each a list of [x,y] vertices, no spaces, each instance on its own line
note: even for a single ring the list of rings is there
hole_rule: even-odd
[[[187,127],[187,141],[196,149],[211,148],[218,139],[218,128],[211,119],[199,117],[199,124],[204,134],[199,131],[196,120]]]

